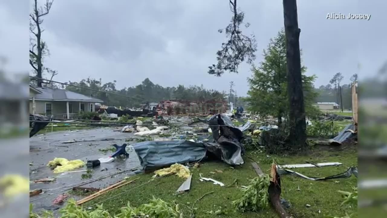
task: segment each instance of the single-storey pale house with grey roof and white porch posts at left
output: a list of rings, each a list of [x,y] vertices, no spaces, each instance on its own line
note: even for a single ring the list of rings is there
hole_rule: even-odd
[[[95,104],[103,100],[65,89],[29,89],[30,114],[53,115],[54,118],[76,119],[80,111],[95,111]]]

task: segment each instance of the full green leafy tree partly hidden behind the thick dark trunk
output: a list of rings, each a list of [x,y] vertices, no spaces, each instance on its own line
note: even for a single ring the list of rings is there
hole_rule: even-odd
[[[253,75],[248,78],[250,90],[247,101],[249,111],[261,116],[271,115],[275,118],[288,116],[289,100],[286,77],[286,40],[282,29],[277,36],[270,40],[267,50],[263,52],[264,61],[253,69]],[[306,67],[301,67],[305,73]],[[307,116],[316,116],[319,109],[313,106],[317,93],[313,82],[316,76],[302,74],[305,112]]]

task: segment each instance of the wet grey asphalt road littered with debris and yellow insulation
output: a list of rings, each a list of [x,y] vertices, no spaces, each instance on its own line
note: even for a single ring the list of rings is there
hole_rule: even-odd
[[[72,187],[79,186],[82,182],[87,182],[101,176],[101,180],[80,185],[81,187],[94,187],[103,189],[111,184],[121,181],[126,176],[134,174],[135,170],[140,169],[140,162],[134,150],[128,147],[127,152],[129,157],[127,159],[116,159],[112,163],[101,163],[101,166],[94,168],[92,178],[82,179],[81,175],[85,172],[75,173],[53,173],[47,167],[47,163],[55,157],[64,157],[68,160],[81,159],[82,161],[94,160],[101,157],[107,157],[113,152],[106,153],[99,151],[99,149],[106,149],[113,144],[122,145],[133,144],[132,142],[125,142],[126,138],[133,137],[133,133],[121,133],[116,128],[96,128],[91,130],[78,131],[58,131],[47,133],[45,135],[35,135],[31,137],[30,142],[30,181],[53,178],[56,180],[50,183],[34,183],[30,182],[30,190],[43,189],[43,193],[38,196],[30,198],[30,202],[34,204],[34,211],[41,209],[53,210],[56,214],[60,206],[53,204],[53,200],[60,194],[67,193]],[[108,140],[107,140],[108,139]],[[63,144],[65,141],[75,140],[77,142]],[[86,142],[84,140],[89,140]],[[93,140],[93,141],[90,141]],[[82,169],[85,170],[86,166]],[[118,173],[113,176],[111,174]],[[81,197],[70,196],[75,199]]]

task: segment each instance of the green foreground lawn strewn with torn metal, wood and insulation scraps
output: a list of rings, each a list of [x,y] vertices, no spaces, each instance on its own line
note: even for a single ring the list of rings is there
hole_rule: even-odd
[[[308,156],[272,156],[267,157],[265,154],[254,154],[250,156],[256,159],[260,168],[264,173],[269,173],[272,158],[278,161],[278,164],[296,164],[310,161],[314,163],[325,161],[339,161],[342,166],[327,166],[323,168],[298,168],[296,171],[307,176],[330,176],[337,173],[342,173],[349,166],[357,165],[357,153],[355,149],[347,151],[325,151],[315,149]],[[122,206],[126,206],[130,201],[132,206],[139,206],[149,202],[152,196],[161,198],[164,201],[180,204],[184,217],[189,217],[192,204],[207,192],[214,192],[205,196],[195,204],[197,208],[196,217],[262,217],[272,218],[278,217],[273,209],[268,208],[259,213],[239,213],[234,211],[231,202],[241,197],[241,185],[248,185],[249,180],[256,175],[251,163],[247,157],[244,158],[245,164],[236,166],[234,169],[223,162],[205,162],[200,164],[199,168],[191,168],[193,174],[190,191],[175,195],[178,187],[184,182],[184,179],[178,178],[175,175],[158,178],[149,182],[153,173],[139,174],[130,179],[139,178],[134,183],[125,185],[119,189],[112,190],[92,201],[84,204],[84,208],[93,206],[103,202],[105,209],[111,213],[118,213]],[[215,173],[213,173],[215,172]],[[214,185],[212,182],[200,182],[198,180],[199,173],[204,177],[210,177],[225,184],[225,187]],[[232,185],[237,180],[237,185]],[[311,181],[303,178],[298,178],[292,175],[283,175],[281,177],[282,194],[287,201],[290,202],[291,208],[288,210],[296,217],[327,217],[327,216],[344,216],[353,213],[357,210],[356,207],[349,208],[348,206],[340,206],[343,201],[337,190],[351,191],[352,187],[356,187],[357,178],[328,180],[328,181]],[[232,185],[231,187],[227,187]],[[310,207],[306,205],[309,204]],[[211,214],[211,211],[221,209],[222,215]],[[319,212],[320,211],[320,212]],[[357,215],[353,216],[353,218]]]

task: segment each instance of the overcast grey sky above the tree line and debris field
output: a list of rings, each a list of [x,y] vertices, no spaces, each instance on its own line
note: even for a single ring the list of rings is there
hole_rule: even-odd
[[[11,73],[31,69],[31,2],[0,1],[0,54],[8,58]],[[386,1],[297,2],[303,64],[308,75],[318,76],[317,87],[337,72],[345,81],[354,73],[360,79],[375,74],[387,60]],[[269,39],[283,28],[282,1],[238,0],[238,7],[251,23],[244,33],[256,36],[258,64]],[[326,19],[328,13],[370,14],[371,19]],[[226,40],[217,30],[226,27],[231,16],[227,0],[55,0],[42,24],[51,53],[45,64],[58,71],[58,81],[102,78],[124,88],[149,78],[164,87],[203,84],[217,90],[227,90],[234,81],[237,94],[246,95],[251,75],[247,64],[240,66],[239,74],[207,74]]]

